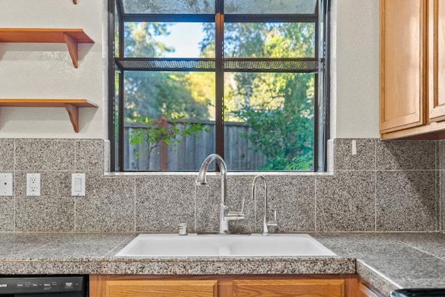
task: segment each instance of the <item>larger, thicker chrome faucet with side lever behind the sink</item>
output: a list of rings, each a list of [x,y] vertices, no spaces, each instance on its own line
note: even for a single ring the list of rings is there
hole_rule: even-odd
[[[200,172],[197,174],[196,185],[197,186],[207,186],[207,169],[212,161],[218,164],[221,172],[221,202],[220,202],[220,214],[219,214],[219,234],[230,234],[229,231],[229,221],[231,220],[243,220],[245,215],[244,210],[244,199],[241,205],[241,211],[229,211],[227,206],[227,166],[223,158],[218,154],[209,154],[207,158],[202,162]]]

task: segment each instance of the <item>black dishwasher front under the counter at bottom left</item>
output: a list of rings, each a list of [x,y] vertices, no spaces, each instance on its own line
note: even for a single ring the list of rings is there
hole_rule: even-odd
[[[87,275],[0,276],[1,297],[86,297]]]

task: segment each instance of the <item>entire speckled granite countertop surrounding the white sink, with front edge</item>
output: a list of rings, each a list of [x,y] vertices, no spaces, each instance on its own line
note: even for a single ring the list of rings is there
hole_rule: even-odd
[[[118,258],[136,233],[0,233],[0,274],[358,273],[385,294],[445,287],[445,234],[313,233],[332,257]]]

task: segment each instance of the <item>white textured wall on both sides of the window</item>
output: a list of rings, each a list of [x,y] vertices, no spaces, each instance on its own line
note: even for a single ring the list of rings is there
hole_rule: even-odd
[[[106,0],[0,0],[0,27],[81,28],[74,69],[65,45],[0,43],[0,98],[86,98],[74,133],[64,109],[0,108],[1,138],[108,138]],[[378,1],[333,0],[331,138],[378,137]]]

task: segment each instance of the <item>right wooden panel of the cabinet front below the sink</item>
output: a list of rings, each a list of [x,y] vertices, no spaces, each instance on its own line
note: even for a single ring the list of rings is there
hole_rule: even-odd
[[[234,297],[343,297],[344,280],[234,280]]]

